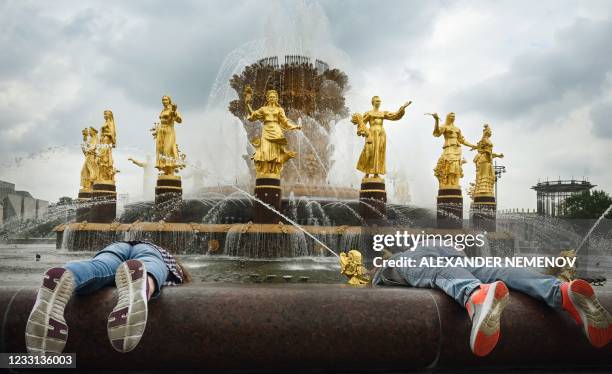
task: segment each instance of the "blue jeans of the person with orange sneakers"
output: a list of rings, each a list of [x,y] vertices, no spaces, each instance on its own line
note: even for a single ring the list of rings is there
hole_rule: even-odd
[[[390,259],[405,257],[418,265],[424,257],[465,256],[449,247],[417,247],[414,251],[396,253]],[[465,307],[471,293],[483,283],[501,280],[514,290],[541,300],[551,308],[561,309],[561,281],[551,275],[525,268],[500,267],[387,267],[379,269],[373,285],[404,285],[419,288],[439,288]]]

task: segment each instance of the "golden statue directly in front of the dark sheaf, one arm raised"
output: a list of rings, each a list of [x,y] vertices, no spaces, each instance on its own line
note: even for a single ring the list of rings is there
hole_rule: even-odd
[[[300,130],[302,127],[289,122],[278,103],[278,93],[275,90],[266,92],[266,104],[257,110],[251,107],[253,90],[250,86],[245,88],[244,95],[247,119],[251,122],[263,121],[261,137],[251,141],[255,147],[251,158],[255,162],[256,177],[280,178],[285,162],[295,157],[295,152],[286,148],[287,139],[283,130]]]

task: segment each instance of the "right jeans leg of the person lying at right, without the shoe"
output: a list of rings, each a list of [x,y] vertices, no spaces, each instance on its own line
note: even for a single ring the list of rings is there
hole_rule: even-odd
[[[534,299],[544,301],[548,306],[561,309],[561,281],[552,275],[545,275],[525,268],[469,268],[483,283],[501,280],[514,290]]]

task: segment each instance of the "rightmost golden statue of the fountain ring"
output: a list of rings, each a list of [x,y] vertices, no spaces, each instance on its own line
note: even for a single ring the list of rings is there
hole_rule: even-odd
[[[484,125],[482,130],[482,139],[472,150],[477,150],[478,154],[474,157],[476,164],[476,187],[474,188],[474,196],[493,196],[493,188],[495,187],[495,171],[493,170],[493,159],[503,158],[503,153],[493,152],[493,143],[491,143],[491,127]]]

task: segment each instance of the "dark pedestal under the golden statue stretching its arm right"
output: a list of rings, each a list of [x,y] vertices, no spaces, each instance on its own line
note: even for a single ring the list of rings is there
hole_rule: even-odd
[[[368,224],[386,222],[387,191],[382,178],[363,178],[359,190],[359,215]]]

